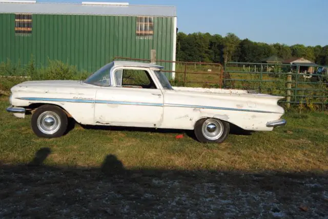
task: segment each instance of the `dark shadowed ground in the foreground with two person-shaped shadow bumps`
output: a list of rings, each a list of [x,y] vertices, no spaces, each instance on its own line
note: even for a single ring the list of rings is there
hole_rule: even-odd
[[[324,218],[327,172],[127,169],[115,155],[98,168],[0,166],[0,217]]]

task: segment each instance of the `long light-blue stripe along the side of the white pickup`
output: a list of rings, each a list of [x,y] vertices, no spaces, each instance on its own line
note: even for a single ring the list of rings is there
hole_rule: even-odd
[[[146,106],[172,106],[172,107],[190,107],[190,108],[207,108],[207,109],[221,109],[228,111],[242,111],[254,113],[276,113],[271,111],[259,111],[256,109],[239,109],[218,106],[202,106],[202,105],[188,105],[175,103],[146,103],[146,102],[127,102],[127,101],[110,101],[110,100],[87,100],[87,99],[63,99],[63,98],[40,98],[40,97],[22,97],[17,98],[21,100],[36,100],[36,101],[55,101],[55,102],[74,102],[74,103],[105,103],[105,104],[121,104],[121,105],[146,105]],[[279,114],[279,113],[277,113]]]

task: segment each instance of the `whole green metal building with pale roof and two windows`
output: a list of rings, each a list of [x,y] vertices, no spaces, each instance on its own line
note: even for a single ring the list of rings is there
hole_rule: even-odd
[[[94,72],[117,56],[150,59],[152,49],[175,61],[176,30],[174,6],[0,1],[0,62],[27,64],[33,55],[37,67],[50,59]]]

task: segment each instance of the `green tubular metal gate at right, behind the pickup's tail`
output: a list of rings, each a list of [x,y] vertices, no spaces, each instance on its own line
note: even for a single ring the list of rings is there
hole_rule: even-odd
[[[307,63],[228,62],[224,65],[223,88],[250,89],[286,97],[286,105],[328,105],[328,67]]]

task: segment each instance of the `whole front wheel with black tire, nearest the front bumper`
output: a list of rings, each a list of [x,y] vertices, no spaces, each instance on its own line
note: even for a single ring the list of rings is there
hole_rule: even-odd
[[[57,138],[66,132],[68,118],[63,109],[54,105],[43,105],[32,115],[31,126],[36,136]]]

